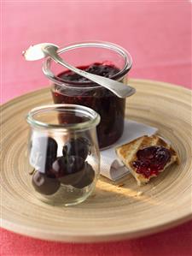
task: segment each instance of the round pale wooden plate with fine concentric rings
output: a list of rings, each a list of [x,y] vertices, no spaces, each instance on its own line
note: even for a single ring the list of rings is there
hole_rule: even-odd
[[[27,178],[28,110],[52,103],[49,88],[3,104],[1,124],[1,224],[5,229],[51,241],[111,241],[151,234],[189,220],[191,208],[191,91],[180,86],[130,80],[137,93],[127,99],[126,117],[159,128],[181,164],[148,185],[131,175],[114,183],[101,176],[95,192],[71,207],[36,199]]]

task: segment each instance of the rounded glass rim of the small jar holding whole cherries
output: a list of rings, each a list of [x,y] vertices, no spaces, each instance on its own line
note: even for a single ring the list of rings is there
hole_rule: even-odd
[[[87,117],[90,118],[89,121],[79,122],[79,123],[48,123],[48,122],[41,122],[35,119],[35,115],[38,113],[43,112],[49,112],[50,110],[55,110],[58,112],[79,112]],[[62,132],[68,132],[68,131],[76,131],[76,130],[86,130],[93,127],[96,127],[98,123],[100,122],[100,115],[95,111],[88,107],[85,107],[83,105],[78,104],[47,104],[47,105],[40,105],[38,107],[33,108],[30,110],[26,116],[26,122],[28,122],[32,127],[35,128],[46,128],[46,129],[56,129],[61,130]]]

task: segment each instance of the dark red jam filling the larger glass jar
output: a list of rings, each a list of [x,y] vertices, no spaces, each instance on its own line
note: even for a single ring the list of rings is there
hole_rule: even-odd
[[[119,68],[108,62],[79,68],[105,77],[119,73]],[[110,146],[118,140],[124,129],[125,98],[118,98],[108,89],[89,83],[89,80],[69,70],[58,76],[67,86],[54,85],[52,94],[55,104],[80,104],[96,110],[101,116],[101,122],[97,126],[100,148]],[[65,118],[60,118],[60,122],[66,122]]]

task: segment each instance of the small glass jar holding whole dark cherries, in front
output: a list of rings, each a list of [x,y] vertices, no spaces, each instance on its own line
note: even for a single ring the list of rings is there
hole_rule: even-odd
[[[29,163],[38,197],[53,205],[76,205],[96,186],[100,153],[96,126],[100,116],[74,104],[52,104],[32,109]]]

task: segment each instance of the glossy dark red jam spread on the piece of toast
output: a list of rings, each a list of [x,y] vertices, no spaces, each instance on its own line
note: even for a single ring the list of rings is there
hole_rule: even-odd
[[[146,178],[157,176],[170,161],[171,152],[163,146],[148,146],[137,152],[137,160],[132,165],[137,168],[138,174]]]

